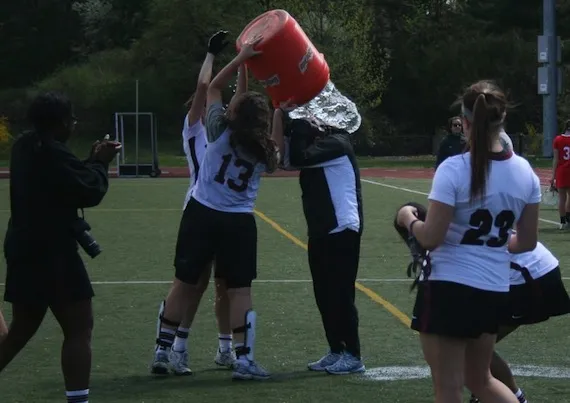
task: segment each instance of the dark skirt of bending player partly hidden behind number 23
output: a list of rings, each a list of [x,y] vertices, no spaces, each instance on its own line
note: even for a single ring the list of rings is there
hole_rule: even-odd
[[[560,268],[531,282],[511,286],[509,315],[505,325],[532,325],[552,316],[570,313],[570,298]]]

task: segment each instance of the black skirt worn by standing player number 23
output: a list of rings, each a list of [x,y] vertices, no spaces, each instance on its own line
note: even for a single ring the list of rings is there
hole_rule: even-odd
[[[457,338],[496,334],[508,301],[508,292],[484,291],[450,281],[424,281],[418,284],[411,328]]]

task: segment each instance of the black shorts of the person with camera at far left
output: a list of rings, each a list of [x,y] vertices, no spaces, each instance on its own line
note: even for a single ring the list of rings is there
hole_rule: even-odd
[[[89,300],[94,295],[77,250],[37,253],[7,261],[4,291],[7,302],[51,306]]]

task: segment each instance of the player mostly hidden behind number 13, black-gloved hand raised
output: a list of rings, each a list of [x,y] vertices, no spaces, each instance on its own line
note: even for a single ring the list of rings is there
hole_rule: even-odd
[[[189,106],[189,110],[186,114],[186,117],[184,118],[182,139],[184,153],[186,154],[186,159],[188,160],[188,169],[190,171],[190,186],[188,187],[186,198],[184,199],[184,208],[186,208],[186,205],[188,204],[188,201],[192,195],[194,185],[198,179],[200,163],[204,158],[208,144],[208,141],[206,139],[206,128],[203,123],[205,115],[204,109],[206,104],[206,94],[208,91],[208,85],[212,79],[214,58],[227,46],[227,34],[227,31],[219,31],[210,38],[208,42],[208,53],[206,55],[204,63],[202,64],[202,68],[198,76],[196,92],[186,103],[186,105]],[[241,77],[245,77],[245,74],[242,74]],[[243,83],[244,80],[247,80],[247,78],[239,80],[236,94],[240,91],[245,91],[244,88],[247,86],[247,81]],[[183,221],[180,225],[193,224],[191,222]],[[159,348],[155,351],[154,360],[151,365],[151,372],[153,374],[166,375],[170,369],[176,375],[192,374],[192,370],[188,365],[188,336],[202,295],[208,287],[211,275],[211,267],[212,263],[208,265],[208,269],[204,271],[202,277],[200,278],[198,292],[195,294],[196,298],[189,301],[188,311],[180,323],[180,326],[178,326],[178,329],[176,329],[172,348]],[[229,299],[224,280],[216,277],[215,285],[215,311],[219,331],[219,347],[214,362],[220,366],[231,367],[235,361],[235,355],[232,351],[232,333],[229,320]],[[157,325],[157,339],[160,338],[160,317],[163,312],[164,301],[162,302],[158,313],[159,319]]]

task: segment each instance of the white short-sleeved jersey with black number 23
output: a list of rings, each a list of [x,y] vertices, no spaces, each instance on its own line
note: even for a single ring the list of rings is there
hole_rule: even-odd
[[[444,242],[430,253],[429,280],[508,292],[507,242],[525,206],[540,203],[540,181],[528,161],[509,151],[493,155],[484,198],[470,203],[470,187],[470,153],[437,168],[428,198],[455,211]]]

